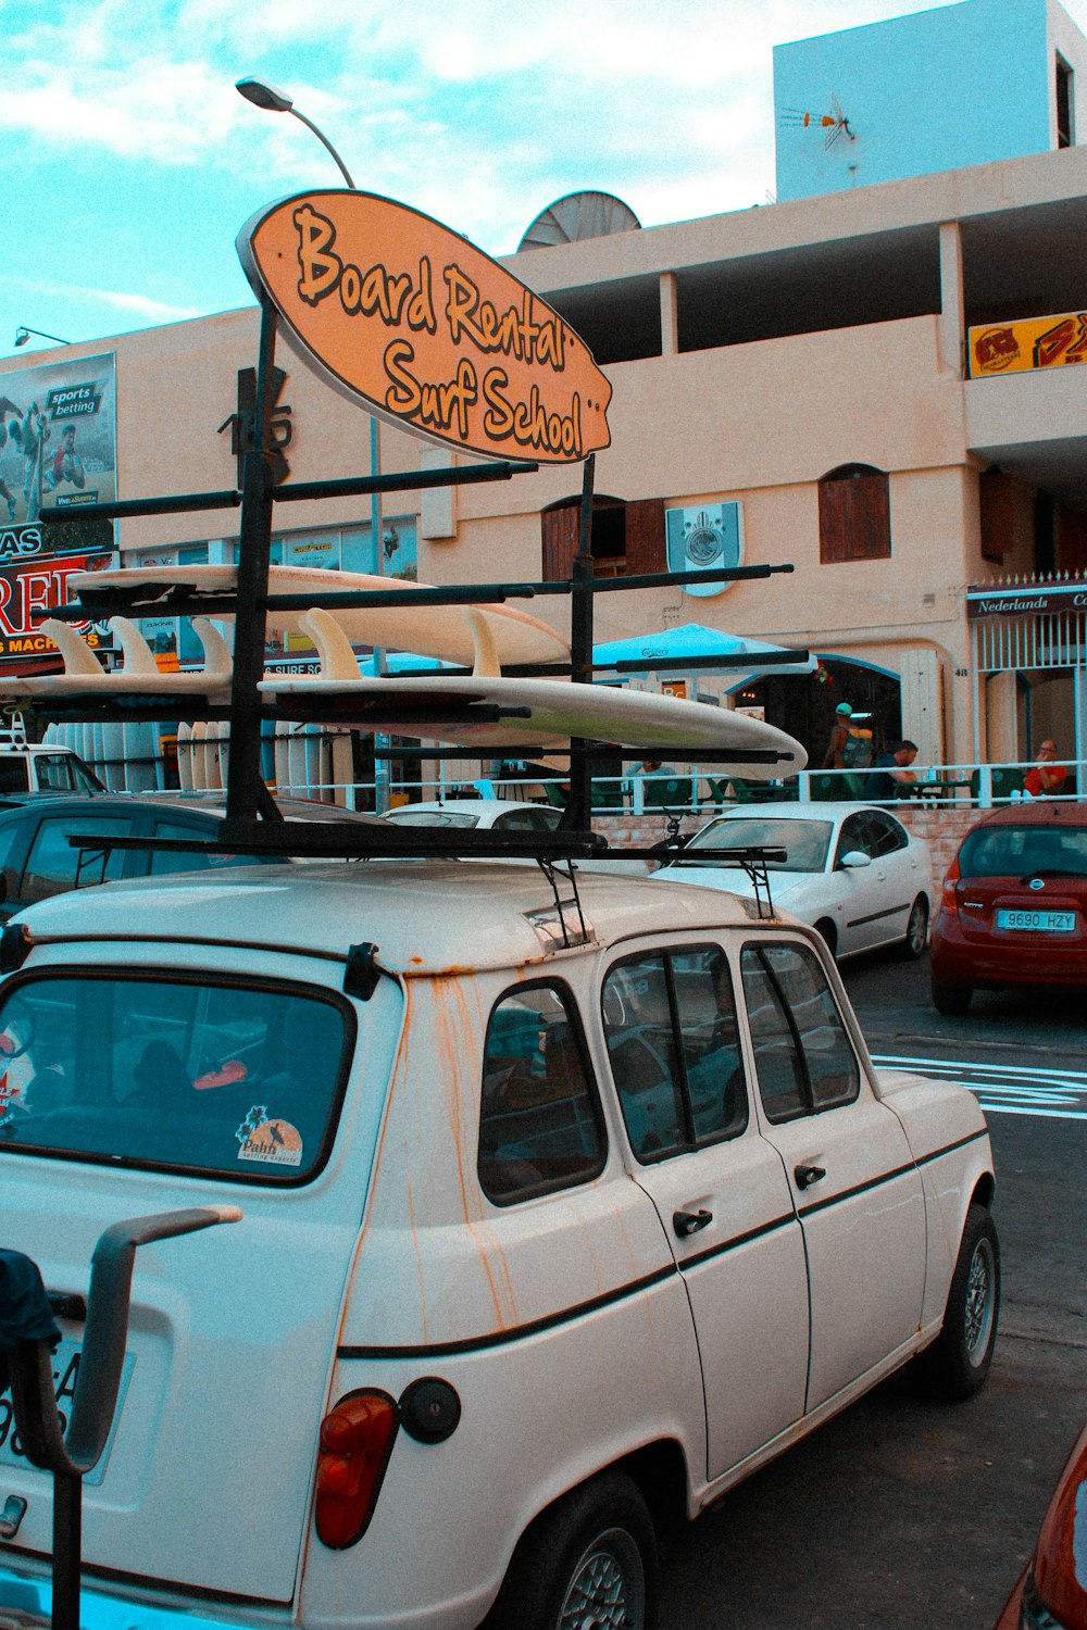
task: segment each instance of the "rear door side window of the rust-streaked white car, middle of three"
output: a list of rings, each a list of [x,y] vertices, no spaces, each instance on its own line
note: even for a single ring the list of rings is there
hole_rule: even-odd
[[[631,957],[610,970],[601,1006],[637,1161],[647,1165],[743,1131],[737,1009],[720,949]]]

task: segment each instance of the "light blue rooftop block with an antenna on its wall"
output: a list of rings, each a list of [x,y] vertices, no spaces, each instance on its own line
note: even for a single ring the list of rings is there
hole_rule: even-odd
[[[1087,39],[1056,0],[960,0],[776,46],[777,197],[1069,145],[1079,83]]]

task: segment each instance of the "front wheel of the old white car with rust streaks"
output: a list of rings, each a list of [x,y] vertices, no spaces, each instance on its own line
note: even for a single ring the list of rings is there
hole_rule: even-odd
[[[914,1361],[926,1392],[960,1403],[979,1390],[992,1363],[999,1312],[1001,1245],[986,1208],[973,1205],[947,1293],[944,1328]]]

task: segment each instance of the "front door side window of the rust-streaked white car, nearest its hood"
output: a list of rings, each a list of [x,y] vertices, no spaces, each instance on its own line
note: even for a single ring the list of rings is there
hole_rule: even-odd
[[[808,945],[745,945],[748,1029],[769,1121],[852,1104],[860,1069],[834,994]]]

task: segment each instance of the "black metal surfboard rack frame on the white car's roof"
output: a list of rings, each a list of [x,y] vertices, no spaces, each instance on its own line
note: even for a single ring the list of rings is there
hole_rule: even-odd
[[[142,598],[121,588],[103,588],[85,592],[83,601],[77,605],[52,608],[49,616],[62,621],[99,621],[106,615],[155,615],[155,616],[215,616],[235,615],[235,650],[233,675],[230,686],[230,703],[222,706],[209,704],[200,696],[181,698],[155,694],[153,688],[145,694],[132,694],[103,699],[95,694],[70,694],[49,701],[31,701],[33,711],[44,720],[91,719],[91,720],[160,720],[160,719],[213,719],[230,725],[230,764],[227,776],[227,812],[222,825],[222,838],[215,841],[202,839],[112,839],[112,848],[140,849],[199,849],[204,852],[236,854],[261,852],[288,856],[328,856],[328,857],[450,857],[500,856],[505,859],[538,859],[544,866],[556,861],[575,861],[608,852],[603,835],[592,830],[592,766],[601,758],[623,758],[634,763],[640,758],[655,756],[658,747],[634,748],[626,747],[616,751],[614,747],[587,740],[570,738],[569,742],[569,786],[567,807],[561,825],[552,833],[515,833],[515,831],[479,831],[442,828],[412,828],[393,822],[378,826],[376,823],[337,820],[328,822],[292,822],[279,817],[267,787],[261,778],[261,724],[264,720],[305,722],[308,706],[301,698],[290,703],[267,703],[259,691],[264,676],[266,654],[266,619],[269,610],[310,610],[321,606],[337,610],[345,606],[398,606],[398,605],[489,605],[505,600],[530,600],[543,595],[564,595],[570,600],[570,662],[569,663],[523,663],[504,668],[510,676],[526,675],[569,675],[574,681],[590,683],[595,672],[627,670],[639,663],[593,663],[593,598],[598,593],[631,592],[637,588],[671,587],[691,580],[698,582],[737,582],[746,579],[768,579],[779,572],[792,572],[790,564],[781,566],[746,566],[728,569],[709,569],[698,572],[652,572],[623,579],[593,579],[592,561],[592,512],[595,453],[590,453],[582,468],[582,496],[579,510],[579,546],[574,556],[570,577],[561,582],[525,582],[525,584],[471,584],[445,585],[432,588],[385,588],[373,592],[329,592],[324,595],[290,595],[269,592],[269,564],[272,549],[272,513],[277,504],[342,499],[354,496],[381,496],[388,492],[419,491],[420,487],[445,487],[466,482],[508,481],[517,474],[531,474],[538,465],[531,460],[502,460],[495,463],[450,466],[443,469],[419,469],[389,474],[368,474],[337,481],[306,481],[293,484],[277,484],[274,474],[274,437],[271,422],[275,412],[275,337],[277,311],[266,297],[261,298],[261,336],[256,368],[256,406],[249,416],[251,434],[246,435],[246,452],[243,456],[241,489],[220,492],[189,492],[173,497],[124,499],[112,504],[81,505],[68,512],[59,510],[52,520],[57,525],[65,522],[86,522],[91,518],[121,520],[150,515],[189,513],[197,510],[240,509],[238,536],[238,579],[233,593],[200,595],[191,588],[179,588],[168,580],[161,585],[161,593],[148,600],[143,588]],[[241,404],[240,404],[241,411]],[[248,429],[248,427],[246,427]],[[244,615],[238,615],[244,608]],[[772,654],[772,662],[786,663],[807,659],[807,650],[784,650]],[[763,659],[759,659],[763,662]],[[654,660],[655,670],[693,670],[702,667],[717,668],[750,668],[750,659],[683,659]],[[458,672],[458,670],[447,670]],[[464,672],[464,670],[460,670]],[[328,712],[328,704],[323,707]],[[489,714],[499,717],[499,709],[486,709],[479,704],[468,704],[460,716],[450,709],[450,727],[456,722],[487,722]],[[500,717],[517,717],[518,709]],[[430,711],[432,717],[432,711]],[[365,727],[365,704],[357,704],[357,719],[350,717],[350,709],[337,709],[337,724],[357,724]],[[404,711],[404,734],[411,734],[411,717]],[[383,722],[375,729],[389,734],[389,724]],[[670,751],[683,753],[684,743],[675,742]],[[541,751],[539,743],[528,743],[523,748],[504,747],[504,758],[533,758]],[[552,756],[554,748],[548,748]],[[772,750],[753,750],[743,753],[714,753],[704,748],[691,750],[702,763],[728,766],[737,763],[781,763],[782,755]],[[375,758],[474,758],[481,756],[481,748],[458,748],[433,745],[430,748],[375,748]],[[300,830],[305,828],[305,830]],[[73,836],[75,848],[83,846]],[[101,848],[101,838],[86,839]],[[660,857],[658,848],[639,848],[611,851],[623,857]],[[763,869],[764,882],[764,869]],[[554,883],[552,883],[554,885]]]

